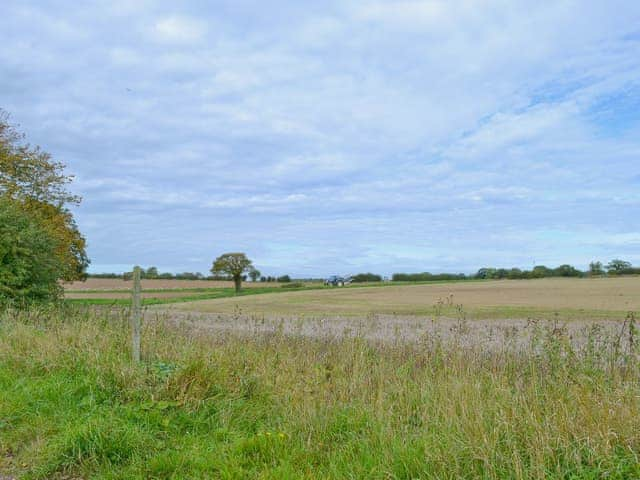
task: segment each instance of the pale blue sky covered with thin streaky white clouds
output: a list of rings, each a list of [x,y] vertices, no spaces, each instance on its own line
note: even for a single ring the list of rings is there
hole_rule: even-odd
[[[3,0],[92,272],[640,263],[640,2]]]

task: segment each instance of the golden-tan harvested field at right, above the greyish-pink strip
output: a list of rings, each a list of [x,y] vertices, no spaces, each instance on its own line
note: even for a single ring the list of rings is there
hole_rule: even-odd
[[[455,317],[460,314],[457,305],[468,318],[550,318],[557,313],[570,319],[620,319],[640,310],[640,277],[351,287],[202,300],[171,308],[289,317],[431,316],[439,309]]]

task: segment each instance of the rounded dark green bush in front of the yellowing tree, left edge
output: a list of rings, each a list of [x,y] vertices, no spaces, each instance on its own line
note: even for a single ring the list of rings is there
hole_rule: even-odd
[[[37,218],[0,198],[0,303],[57,299],[65,266],[56,248]]]

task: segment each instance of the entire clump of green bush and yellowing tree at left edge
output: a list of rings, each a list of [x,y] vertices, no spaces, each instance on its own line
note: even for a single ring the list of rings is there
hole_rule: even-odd
[[[0,110],[3,301],[54,298],[60,280],[85,278],[85,239],[68,209],[80,198],[68,191],[73,177],[64,168],[47,152],[25,143]]]

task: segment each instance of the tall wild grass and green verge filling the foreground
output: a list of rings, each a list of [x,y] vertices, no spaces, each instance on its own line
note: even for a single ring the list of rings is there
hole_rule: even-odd
[[[640,477],[635,327],[462,349],[0,314],[0,477]]]

